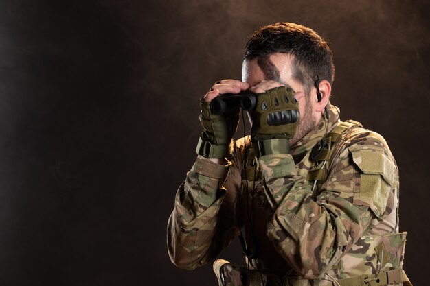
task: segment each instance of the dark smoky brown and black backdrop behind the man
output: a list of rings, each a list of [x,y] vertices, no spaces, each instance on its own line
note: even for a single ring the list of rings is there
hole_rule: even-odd
[[[240,78],[261,25],[315,29],[332,102],[400,169],[405,270],[426,285],[426,1],[0,1],[0,284],[216,285],[174,267],[166,223],[196,154],[198,99]],[[242,263],[238,242],[221,257]]]

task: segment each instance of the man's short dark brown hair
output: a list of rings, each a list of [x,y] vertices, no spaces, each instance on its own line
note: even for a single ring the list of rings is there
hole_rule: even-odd
[[[260,27],[248,38],[245,60],[267,58],[272,53],[293,56],[293,77],[310,91],[315,80],[335,80],[333,54],[315,31],[294,23],[275,23]]]

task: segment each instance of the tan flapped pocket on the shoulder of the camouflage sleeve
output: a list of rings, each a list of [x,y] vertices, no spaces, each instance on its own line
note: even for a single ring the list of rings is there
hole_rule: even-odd
[[[389,192],[394,188],[396,165],[381,148],[351,148],[352,160],[360,171],[355,180],[354,204],[369,206],[383,219]]]

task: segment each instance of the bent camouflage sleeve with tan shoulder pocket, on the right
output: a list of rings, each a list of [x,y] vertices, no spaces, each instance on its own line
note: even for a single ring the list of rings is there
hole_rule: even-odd
[[[317,278],[330,270],[370,228],[372,220],[385,215],[387,194],[394,186],[385,177],[394,178],[395,163],[373,141],[350,149],[341,152],[317,198],[311,198],[310,184],[299,175],[290,154],[260,156],[270,206],[267,235],[304,278]],[[372,203],[375,200],[377,206]]]

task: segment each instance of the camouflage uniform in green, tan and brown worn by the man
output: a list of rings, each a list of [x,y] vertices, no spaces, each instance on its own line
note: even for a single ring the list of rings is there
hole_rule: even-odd
[[[225,165],[199,156],[168,222],[172,262],[186,269],[209,263],[245,228],[247,246],[256,250],[247,267],[258,269],[258,275],[248,272],[248,285],[261,279],[266,285],[387,285],[377,279],[401,269],[406,233],[398,233],[398,169],[383,137],[359,126],[346,129],[312,196],[310,150],[339,126],[334,110],[329,105],[330,120],[321,119],[290,154],[258,156],[247,138],[236,141]]]

